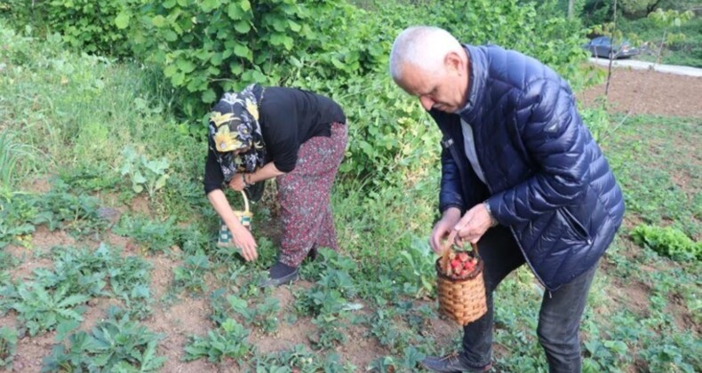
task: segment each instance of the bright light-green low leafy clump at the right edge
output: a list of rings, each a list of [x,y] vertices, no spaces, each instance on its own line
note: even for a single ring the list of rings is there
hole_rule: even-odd
[[[672,226],[642,224],[634,227],[631,237],[636,244],[648,247],[674,260],[687,261],[702,258],[702,242],[692,241],[687,234]]]

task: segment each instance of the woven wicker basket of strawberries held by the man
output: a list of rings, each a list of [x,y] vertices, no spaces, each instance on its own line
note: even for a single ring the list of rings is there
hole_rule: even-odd
[[[439,311],[461,326],[479,319],[488,311],[485,300],[485,283],[483,282],[483,259],[478,254],[478,246],[472,243],[478,263],[475,270],[464,279],[452,279],[443,273],[448,265],[449,255],[453,252],[454,231],[443,248],[442,258],[436,259],[437,292],[439,294]]]

